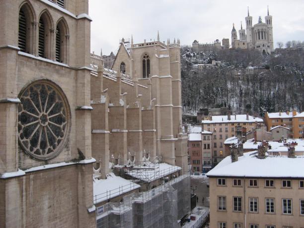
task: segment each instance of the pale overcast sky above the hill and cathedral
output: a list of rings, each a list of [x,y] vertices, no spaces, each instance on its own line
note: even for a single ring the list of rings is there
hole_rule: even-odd
[[[265,21],[267,5],[275,46],[278,41],[304,41],[304,0],[89,0],[91,51],[115,54],[122,37],[133,34],[134,43],[156,40],[157,30],[161,41],[175,37],[182,45],[224,37],[231,42],[232,23],[236,30],[240,21],[246,27],[247,6],[257,23],[259,16]]]

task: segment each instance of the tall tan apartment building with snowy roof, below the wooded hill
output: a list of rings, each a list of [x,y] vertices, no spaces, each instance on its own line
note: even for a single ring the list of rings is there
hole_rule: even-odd
[[[224,142],[230,137],[236,136],[237,126],[241,131],[249,131],[256,128],[258,123],[262,123],[261,118],[246,115],[203,116],[202,131],[212,132],[212,165],[217,165],[229,152],[225,151]]]

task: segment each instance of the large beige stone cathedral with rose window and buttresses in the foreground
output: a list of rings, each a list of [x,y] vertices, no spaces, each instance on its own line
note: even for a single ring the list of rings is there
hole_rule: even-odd
[[[122,41],[108,70],[88,0],[0,3],[0,227],[95,227],[93,166],[187,168],[179,42]]]

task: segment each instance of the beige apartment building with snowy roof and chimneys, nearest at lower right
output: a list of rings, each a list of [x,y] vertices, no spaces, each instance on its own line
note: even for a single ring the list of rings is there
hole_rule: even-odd
[[[237,156],[231,150],[210,178],[210,227],[304,228],[304,156]],[[284,167],[284,168],[282,168]]]

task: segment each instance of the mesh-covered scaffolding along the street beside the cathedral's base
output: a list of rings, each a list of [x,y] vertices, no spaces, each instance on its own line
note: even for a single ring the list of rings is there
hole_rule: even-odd
[[[176,228],[190,212],[190,175],[173,178],[146,192],[132,193],[120,203],[96,210],[97,228]]]

